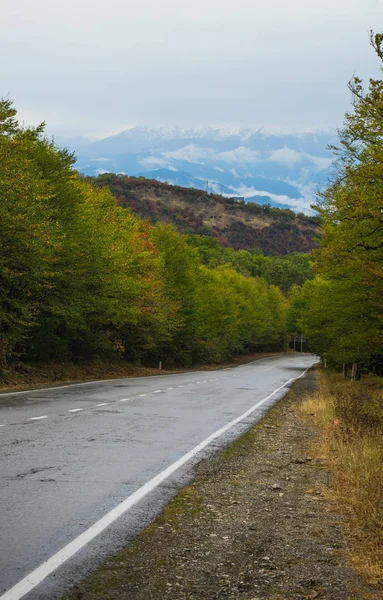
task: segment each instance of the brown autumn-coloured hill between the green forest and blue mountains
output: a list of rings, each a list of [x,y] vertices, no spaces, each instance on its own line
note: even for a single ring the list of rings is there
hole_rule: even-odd
[[[120,206],[152,223],[173,223],[181,233],[211,235],[224,247],[258,249],[268,255],[310,252],[319,235],[318,218],[289,209],[245,203],[235,198],[144,177],[107,173],[91,178],[108,187]]]

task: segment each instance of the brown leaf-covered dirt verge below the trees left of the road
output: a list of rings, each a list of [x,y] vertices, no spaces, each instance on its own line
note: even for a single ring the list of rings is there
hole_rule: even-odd
[[[267,356],[277,356],[280,352],[236,356],[225,363],[196,365],[193,368],[174,368],[159,371],[151,367],[138,367],[122,360],[89,361],[84,363],[11,363],[0,369],[0,393],[25,389],[44,388],[61,384],[82,383],[97,379],[118,379],[125,377],[148,377],[149,375],[170,375],[192,371],[214,371],[247,364]],[[0,398],[1,399],[1,398]]]

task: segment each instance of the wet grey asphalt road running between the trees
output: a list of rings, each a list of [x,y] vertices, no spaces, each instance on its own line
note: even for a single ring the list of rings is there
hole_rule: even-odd
[[[289,354],[0,395],[0,598],[61,598],[315,362]]]

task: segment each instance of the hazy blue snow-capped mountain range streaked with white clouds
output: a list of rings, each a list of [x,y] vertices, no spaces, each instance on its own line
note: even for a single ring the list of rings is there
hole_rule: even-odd
[[[66,140],[86,174],[123,173],[248,202],[312,213],[331,173],[325,131],[273,133],[234,127],[137,126],[90,142]]]

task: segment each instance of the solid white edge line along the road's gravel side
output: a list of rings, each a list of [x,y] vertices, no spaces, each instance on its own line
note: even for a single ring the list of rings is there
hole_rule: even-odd
[[[56,552],[56,554],[48,558],[48,560],[46,560],[42,565],[37,567],[37,569],[29,573],[29,575],[24,577],[21,581],[19,581],[19,583],[16,583],[16,585],[14,585],[11,589],[5,592],[5,594],[0,596],[0,600],[20,600],[20,598],[23,598],[26,594],[28,594],[31,590],[38,586],[42,581],[44,581],[44,579],[48,577],[48,575],[53,573],[53,571],[58,569],[58,567],[60,567],[67,560],[72,558],[74,554],[76,554],[79,550],[84,548],[84,546],[89,544],[89,542],[91,542],[97,535],[99,535],[102,531],[109,527],[111,523],[114,523],[114,521],[116,521],[127,510],[132,508],[132,506],[137,504],[137,502],[142,500],[142,498],[144,498],[150,492],[156,489],[163,481],[170,477],[170,475],[175,473],[175,471],[177,471],[180,467],[182,467],[184,464],[189,462],[189,460],[194,458],[199,452],[201,452],[201,450],[206,448],[206,446],[211,444],[211,442],[213,442],[214,440],[221,437],[221,435],[226,433],[226,431],[231,429],[234,425],[240,423],[248,416],[250,416],[257,408],[259,408],[260,406],[262,406],[262,404],[270,400],[270,398],[272,398],[277,392],[279,392],[283,388],[288,387],[297,379],[303,377],[307,373],[309,368],[310,367],[305,369],[303,373],[298,375],[298,377],[293,377],[292,379],[289,379],[288,381],[283,383],[281,386],[279,386],[277,389],[271,392],[271,394],[266,396],[266,398],[263,398],[263,400],[260,400],[259,402],[254,404],[254,406],[249,408],[245,413],[243,413],[243,415],[240,415],[236,419],[233,419],[233,421],[230,421],[230,423],[227,423],[227,425],[224,425],[223,427],[221,427],[221,429],[218,429],[217,431],[209,435],[209,437],[204,439],[203,442],[201,442],[192,450],[181,456],[181,458],[179,458],[169,467],[161,471],[161,473],[153,477],[153,479],[145,483],[133,494],[125,498],[125,500],[123,500],[118,506],[113,508],[99,521],[97,521],[91,527],[89,527],[89,529],[87,529],[74,540],[69,542],[69,544],[64,546],[64,548]]]

